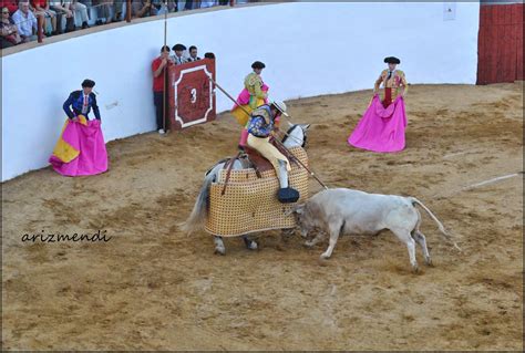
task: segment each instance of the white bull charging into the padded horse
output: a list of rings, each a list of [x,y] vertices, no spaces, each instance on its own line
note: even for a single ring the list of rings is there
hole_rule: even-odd
[[[306,204],[297,206],[294,211],[297,214],[303,238],[308,237],[313,229],[320,230],[311,241],[306,242],[308,247],[321,240],[325,232],[330,235],[329,247],[321,255],[323,259],[330,258],[340,235],[377,235],[383,229],[389,229],[406,245],[412,269],[418,271],[415,242],[423,250],[425,263],[431,266],[432,259],[426,248],[425,237],[419,229],[421,215],[415,204],[430,215],[442,235],[451,240],[440,220],[414,197],[367,194],[337,188],[316,194]],[[453,243],[460,250],[457,245]]]

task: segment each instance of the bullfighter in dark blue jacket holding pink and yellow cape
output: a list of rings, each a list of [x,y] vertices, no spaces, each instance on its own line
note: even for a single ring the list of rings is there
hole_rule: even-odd
[[[92,93],[94,85],[93,81],[84,80],[82,90],[72,92],[64,102],[68,120],[49,158],[53,169],[61,175],[95,175],[107,170],[101,116],[95,94]],[[92,107],[96,118],[90,121],[87,114]]]

